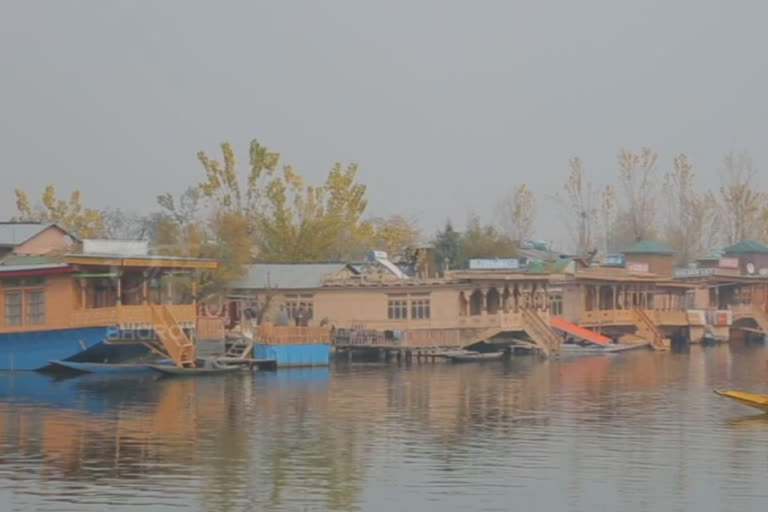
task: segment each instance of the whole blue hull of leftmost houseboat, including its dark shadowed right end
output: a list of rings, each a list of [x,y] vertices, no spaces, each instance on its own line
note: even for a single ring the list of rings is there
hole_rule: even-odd
[[[112,327],[0,333],[0,370],[43,370],[51,361],[120,362],[148,353],[141,344],[111,345]]]

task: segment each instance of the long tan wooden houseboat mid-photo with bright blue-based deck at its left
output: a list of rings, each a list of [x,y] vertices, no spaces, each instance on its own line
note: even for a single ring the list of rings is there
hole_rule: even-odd
[[[361,264],[257,264],[233,284],[230,327],[258,333],[257,355],[273,351],[278,366],[327,364],[331,333],[337,349],[521,342],[551,353],[562,338],[548,322],[548,283],[547,274],[488,269],[414,277],[381,253]]]

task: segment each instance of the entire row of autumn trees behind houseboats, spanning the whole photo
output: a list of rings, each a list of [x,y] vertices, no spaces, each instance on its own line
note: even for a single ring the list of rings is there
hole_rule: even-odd
[[[146,216],[84,207],[78,190],[60,198],[49,185],[34,205],[16,190],[14,220],[57,222],[83,238],[147,239],[162,254],[215,258],[221,269],[214,286],[240,277],[249,262],[348,261],[372,248],[400,253],[423,240],[412,219],[366,216],[357,164],[336,163],[323,183],[310,185],[259,141],[248,149],[245,166],[227,142],[218,158],[198,152],[199,181],[179,195],[158,195],[157,210]],[[622,149],[613,183],[598,185],[574,157],[560,190],[546,199],[559,211],[574,253],[620,251],[652,239],[685,264],[723,245],[768,239],[768,194],[757,189],[749,154],[726,154],[718,176],[718,187],[701,187],[686,154],[662,165],[651,148]],[[535,192],[518,184],[499,201],[493,222],[471,214],[457,231],[449,220],[429,242],[443,267],[514,257],[534,236],[537,211]]]

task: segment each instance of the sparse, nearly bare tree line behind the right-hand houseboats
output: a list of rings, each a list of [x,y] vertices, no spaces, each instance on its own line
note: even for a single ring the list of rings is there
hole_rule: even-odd
[[[567,230],[567,252],[619,252],[637,240],[656,240],[685,265],[741,240],[768,242],[768,194],[759,190],[757,175],[748,153],[729,152],[717,171],[719,183],[706,187],[684,153],[662,164],[652,148],[622,149],[612,183],[598,184],[573,157],[564,183],[547,200]],[[499,205],[499,230],[473,218],[458,233],[449,221],[433,238],[438,261],[462,267],[472,257],[514,256],[534,234],[536,213],[534,192],[517,185]]]

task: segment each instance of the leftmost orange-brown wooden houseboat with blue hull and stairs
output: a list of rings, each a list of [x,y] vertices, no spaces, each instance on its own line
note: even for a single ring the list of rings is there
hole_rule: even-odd
[[[0,370],[151,352],[178,365],[194,359],[195,273],[214,270],[215,261],[149,255],[142,242],[88,240],[79,253],[23,261],[0,264]]]

